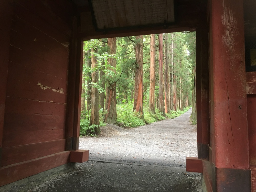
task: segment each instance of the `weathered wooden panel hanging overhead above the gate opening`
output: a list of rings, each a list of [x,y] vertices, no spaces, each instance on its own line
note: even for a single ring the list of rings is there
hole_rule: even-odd
[[[98,29],[174,22],[174,0],[91,0]]]

